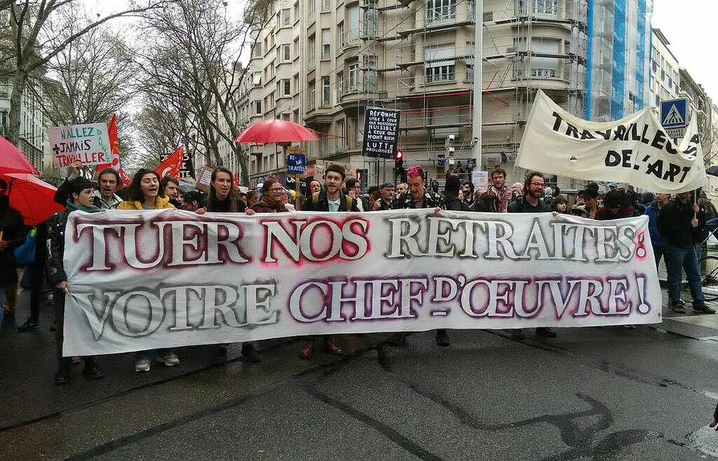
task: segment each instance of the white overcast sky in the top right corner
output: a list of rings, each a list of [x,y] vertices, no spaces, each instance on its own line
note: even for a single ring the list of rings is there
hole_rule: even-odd
[[[653,27],[661,29],[679,65],[703,85],[714,103],[718,103],[717,14],[716,0],[653,0]]]

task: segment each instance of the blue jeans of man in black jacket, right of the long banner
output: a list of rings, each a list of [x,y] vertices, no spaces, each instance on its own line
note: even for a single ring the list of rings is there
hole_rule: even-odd
[[[683,280],[681,270],[685,270],[693,298],[693,308],[704,307],[706,301],[701,289],[701,273],[694,244],[689,244],[687,247],[666,244],[666,262],[668,263],[668,299],[671,300],[671,305],[684,304],[681,300],[681,280]]]

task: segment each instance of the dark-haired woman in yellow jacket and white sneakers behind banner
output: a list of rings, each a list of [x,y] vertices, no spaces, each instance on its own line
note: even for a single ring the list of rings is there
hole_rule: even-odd
[[[174,208],[174,205],[169,203],[169,197],[164,196],[164,189],[157,171],[140,168],[132,177],[132,182],[127,189],[127,200],[120,202],[117,209]],[[164,363],[166,366],[180,364],[180,359],[174,355],[172,348],[137,351],[135,353],[135,371],[149,371],[151,359],[154,355],[157,355],[157,361]]]

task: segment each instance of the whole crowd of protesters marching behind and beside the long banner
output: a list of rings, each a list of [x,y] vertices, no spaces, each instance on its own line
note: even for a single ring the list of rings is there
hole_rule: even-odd
[[[247,215],[286,213],[295,209],[292,191],[285,189],[278,179],[267,179],[258,189],[242,193],[234,182],[232,171],[215,168],[210,179],[209,192],[197,190],[182,191],[180,181],[166,176],[160,178],[156,171],[140,169],[131,184],[121,189],[120,176],[111,168],[100,171],[94,183],[80,176],[80,165],[73,164],[72,174],[57,189],[55,201],[65,206],[65,211],[53,215],[47,222],[37,226],[37,257],[26,272],[30,279],[30,309],[27,320],[19,325],[18,331],[36,330],[42,305],[52,303],[55,308],[55,331],[58,369],[55,384],[70,381],[71,363],[84,361],[83,375],[88,379],[100,379],[103,372],[93,357],[63,357],[63,325],[67,276],[63,267],[65,227],[68,215],[75,211],[101,212],[107,209],[152,210],[184,209],[196,214],[243,213]],[[471,182],[462,181],[458,176],[447,176],[444,191],[426,187],[427,174],[421,166],[409,168],[406,183],[396,185],[385,182],[361,193],[361,184],[347,178],[341,166],[330,165],[322,181],[316,179],[307,184],[306,196],[295,197],[299,209],[308,212],[372,212],[390,209],[436,209],[454,212],[484,213],[553,213],[574,214],[586,219],[608,220],[635,217],[646,214],[656,267],[665,261],[668,273],[668,300],[676,313],[685,313],[685,302],[681,298],[682,271],[689,282],[692,308],[702,313],[715,313],[709,308],[701,291],[698,260],[701,242],[705,242],[709,225],[718,224],[718,213],[705,194],[691,192],[677,194],[671,199],[668,194],[636,194],[632,188],[620,188],[610,184],[606,194],[600,194],[596,183],[588,184],[574,196],[575,202],[561,195],[557,186],[547,186],[546,177],[538,172],[526,174],[526,179],[508,185],[507,175],[502,168],[495,168],[490,174],[486,190],[475,189]],[[25,229],[22,216],[9,206],[5,195],[7,184],[0,179],[0,309],[2,322],[14,323],[17,311],[17,290],[19,270],[14,264],[13,250],[24,242]],[[47,252],[47,240],[50,252]],[[49,284],[49,285],[47,285]],[[45,285],[51,287],[50,293]],[[4,290],[1,289],[4,287]],[[633,325],[626,325],[633,328]],[[511,331],[518,341],[525,338],[523,331]],[[397,332],[389,339],[390,346],[406,342],[409,333]],[[536,328],[538,336],[555,338],[551,328]],[[317,342],[322,342],[323,351],[341,355],[342,349],[332,336],[306,338],[299,351],[301,358],[314,355]],[[438,330],[435,341],[439,346],[450,346],[446,330]],[[217,363],[227,360],[227,344],[218,345],[215,358]],[[242,356],[249,362],[260,362],[261,357],[253,343],[243,343]],[[180,358],[172,349],[139,351],[135,353],[135,371],[149,371],[152,361],[164,366],[177,366]]]

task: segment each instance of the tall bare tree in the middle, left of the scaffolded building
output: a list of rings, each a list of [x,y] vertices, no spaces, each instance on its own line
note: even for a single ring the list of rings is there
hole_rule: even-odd
[[[220,143],[229,143],[248,183],[248,158],[234,143],[238,134],[239,83],[246,77],[241,53],[253,52],[253,30],[274,19],[276,0],[254,0],[238,22],[226,14],[222,0],[176,0],[149,15],[148,34],[154,46],[146,51],[146,91],[177,111],[182,136],[195,134],[207,163],[221,165]],[[220,120],[222,123],[220,123]],[[228,132],[222,125],[229,127]]]

